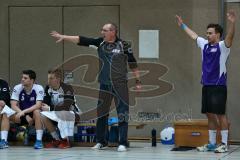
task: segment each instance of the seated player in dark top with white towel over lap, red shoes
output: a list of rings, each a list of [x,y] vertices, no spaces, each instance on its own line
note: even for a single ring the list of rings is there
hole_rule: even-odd
[[[48,71],[48,85],[43,102],[42,121],[54,139],[45,148],[69,148],[68,136],[73,136],[75,114],[78,115],[80,110],[75,104],[73,88],[62,82],[61,70]]]

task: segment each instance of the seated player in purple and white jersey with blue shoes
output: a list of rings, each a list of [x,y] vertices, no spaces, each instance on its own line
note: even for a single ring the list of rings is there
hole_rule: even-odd
[[[36,73],[32,70],[22,72],[21,84],[14,87],[11,96],[11,108],[3,108],[1,124],[0,149],[8,148],[9,121],[20,125],[35,123],[36,142],[35,149],[43,148],[42,144],[42,123],[40,118],[40,108],[42,106],[44,89],[41,85],[35,84]]]

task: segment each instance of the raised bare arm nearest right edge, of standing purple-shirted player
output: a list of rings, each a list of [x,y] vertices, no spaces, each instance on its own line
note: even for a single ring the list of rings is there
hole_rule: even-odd
[[[235,33],[235,22],[236,22],[236,15],[235,12],[233,10],[230,10],[227,13],[227,20],[228,20],[228,32],[227,35],[225,37],[225,44],[227,47],[231,47],[232,46],[232,41],[233,41],[233,37],[234,37],[234,33]]]

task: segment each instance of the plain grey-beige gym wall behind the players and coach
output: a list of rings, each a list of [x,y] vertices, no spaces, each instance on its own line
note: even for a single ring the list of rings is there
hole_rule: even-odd
[[[100,36],[101,26],[115,22],[120,37],[133,44],[139,62],[160,63],[168,68],[161,77],[174,85],[164,95],[138,98],[131,113],[159,112],[165,115],[188,115],[205,118],[201,109],[201,56],[194,41],[177,27],[174,16],[180,14],[186,24],[204,36],[206,25],[221,22],[219,0],[1,0],[0,1],[0,77],[10,85],[19,83],[23,69],[32,68],[38,74],[38,82],[46,84],[46,73],[51,67],[79,54],[96,55],[96,51],[70,43],[55,44],[49,36],[51,30],[69,35]],[[225,4],[239,15],[239,4]],[[240,140],[238,125],[238,97],[240,75],[238,72],[239,22],[232,54],[228,63],[228,115],[231,121],[230,139]],[[138,58],[138,30],[157,29],[160,33],[159,59]],[[96,64],[97,68],[97,64]],[[85,83],[82,77],[86,67],[74,72],[75,84],[98,87],[97,82]],[[96,106],[96,99],[78,96],[83,111]],[[115,112],[112,113],[115,115]],[[143,130],[130,129],[130,136],[148,137],[154,127],[158,131],[170,121],[149,123]]]

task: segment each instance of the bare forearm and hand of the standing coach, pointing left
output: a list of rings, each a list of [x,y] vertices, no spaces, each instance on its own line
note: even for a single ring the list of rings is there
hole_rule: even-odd
[[[69,41],[69,42],[72,42],[72,43],[79,43],[79,36],[68,36],[68,35],[62,35],[62,34],[59,34],[58,32],[56,31],[52,31],[50,33],[50,35],[54,38],[57,39],[56,43],[59,43],[61,41]]]

